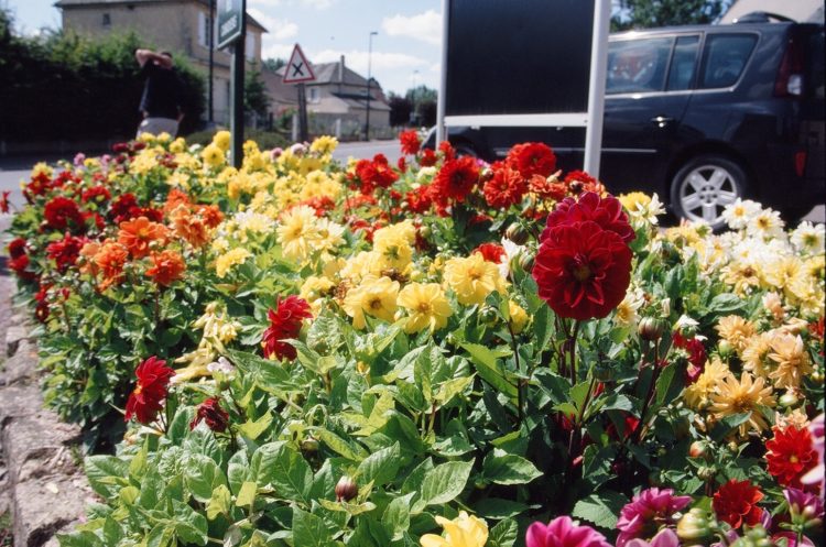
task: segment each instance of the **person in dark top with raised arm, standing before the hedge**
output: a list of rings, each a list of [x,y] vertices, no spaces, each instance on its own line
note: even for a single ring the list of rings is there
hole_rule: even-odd
[[[141,133],[177,135],[178,124],[184,118],[184,85],[175,72],[170,52],[155,53],[137,50],[134,57],[141,65],[140,75],[145,78],[139,110],[143,116],[135,136]]]

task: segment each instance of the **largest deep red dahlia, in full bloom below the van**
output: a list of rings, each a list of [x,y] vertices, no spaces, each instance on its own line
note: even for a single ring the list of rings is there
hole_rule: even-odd
[[[546,230],[533,278],[539,295],[561,317],[606,317],[631,282],[631,250],[613,231],[593,221]]]

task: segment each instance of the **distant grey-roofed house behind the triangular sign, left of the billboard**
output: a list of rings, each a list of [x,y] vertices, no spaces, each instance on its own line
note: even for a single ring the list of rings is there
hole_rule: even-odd
[[[294,111],[298,106],[297,86],[282,84],[285,67],[274,74],[264,73],[264,81],[272,99],[271,112],[275,117]],[[367,123],[367,78],[338,63],[313,65],[315,81],[304,85],[307,98],[309,132],[332,134],[339,139],[357,139]],[[376,79],[370,80],[370,136],[391,136],[390,105]]]

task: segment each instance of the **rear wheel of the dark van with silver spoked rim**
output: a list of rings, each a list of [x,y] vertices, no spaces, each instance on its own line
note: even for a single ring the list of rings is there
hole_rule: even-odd
[[[703,154],[674,175],[671,206],[677,218],[705,221],[719,230],[726,226],[722,210],[748,190],[748,177],[739,164],[718,154]]]

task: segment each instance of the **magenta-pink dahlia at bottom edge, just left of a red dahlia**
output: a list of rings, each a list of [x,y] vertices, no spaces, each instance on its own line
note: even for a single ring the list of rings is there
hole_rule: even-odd
[[[673,524],[674,513],[691,501],[688,495],[674,495],[672,489],[643,490],[620,512],[617,547],[624,547],[630,539],[637,537],[651,537],[662,525]]]

